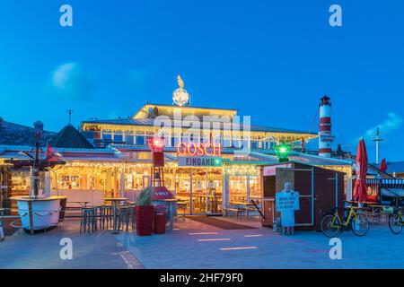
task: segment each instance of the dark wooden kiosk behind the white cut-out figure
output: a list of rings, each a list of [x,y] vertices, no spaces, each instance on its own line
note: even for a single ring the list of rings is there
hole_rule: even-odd
[[[343,213],[345,200],[344,173],[297,162],[261,167],[263,190],[263,226],[273,227],[277,217],[275,196],[288,181],[299,192],[300,210],[294,213],[296,230],[319,230],[323,213],[338,207]]]

